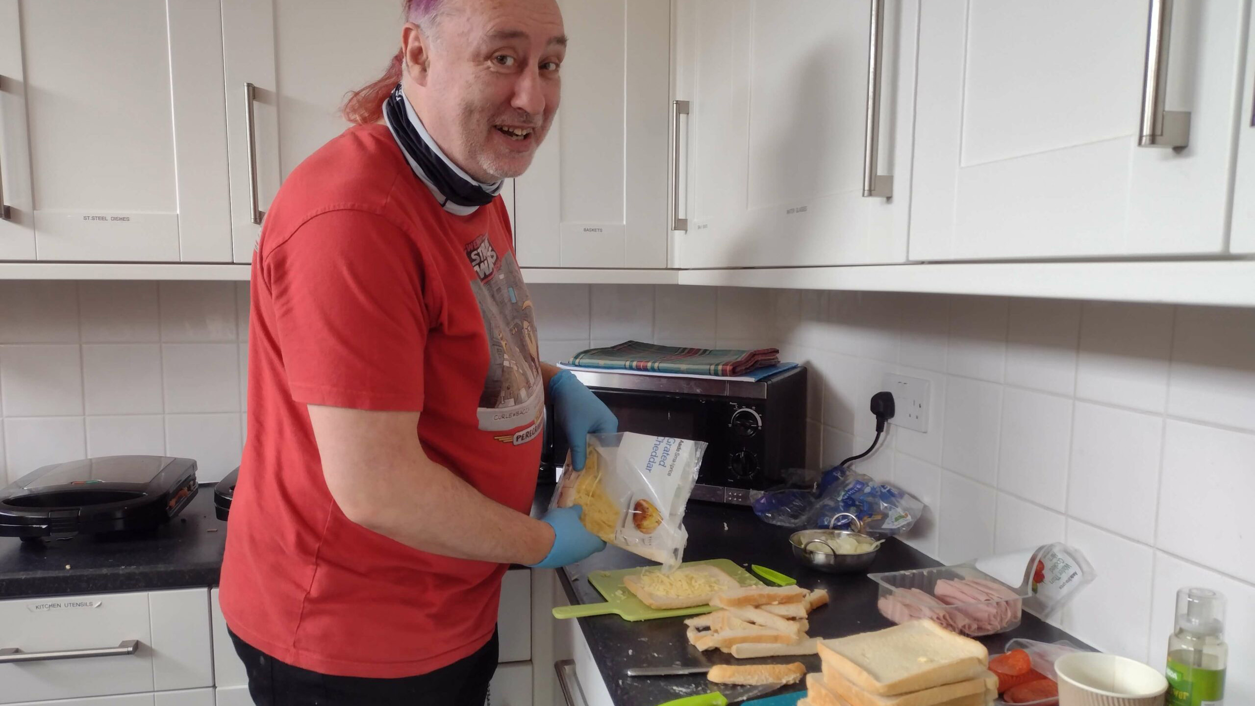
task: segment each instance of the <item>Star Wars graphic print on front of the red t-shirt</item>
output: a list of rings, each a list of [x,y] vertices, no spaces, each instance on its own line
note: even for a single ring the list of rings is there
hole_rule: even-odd
[[[468,242],[466,253],[478,278],[471,289],[488,335],[479,428],[511,432],[497,441],[526,443],[540,433],[545,407],[532,300],[512,253],[498,255],[487,235]]]

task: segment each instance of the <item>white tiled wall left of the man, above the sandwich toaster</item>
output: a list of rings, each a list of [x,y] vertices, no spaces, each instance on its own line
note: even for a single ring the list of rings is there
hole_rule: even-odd
[[[0,477],[113,453],[240,464],[245,283],[0,281]]]

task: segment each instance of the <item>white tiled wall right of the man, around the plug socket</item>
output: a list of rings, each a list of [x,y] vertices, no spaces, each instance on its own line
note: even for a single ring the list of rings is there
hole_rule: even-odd
[[[979,296],[533,286],[542,352],[638,338],[776,344],[811,368],[809,455],[862,451],[881,377],[932,383],[927,433],[890,427],[860,469],[929,505],[910,543],[948,563],[1062,540],[1098,580],[1073,634],[1162,665],[1176,589],[1229,598],[1255,663],[1255,310]],[[814,443],[817,442],[817,443]],[[1255,703],[1230,671],[1226,701]]]

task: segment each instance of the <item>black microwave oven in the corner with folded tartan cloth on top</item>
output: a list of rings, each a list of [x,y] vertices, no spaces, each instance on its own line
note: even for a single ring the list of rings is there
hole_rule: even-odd
[[[693,499],[748,505],[749,491],[806,464],[806,367],[761,381],[571,371],[619,417],[619,431],[708,443]],[[547,420],[553,418],[546,408]],[[553,479],[569,443],[545,425],[542,477]]]

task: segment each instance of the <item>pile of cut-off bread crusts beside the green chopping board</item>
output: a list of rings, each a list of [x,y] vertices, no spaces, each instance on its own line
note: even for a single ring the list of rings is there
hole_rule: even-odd
[[[698,649],[722,649],[737,658],[814,654],[807,616],[828,602],[828,592],[796,585],[733,588],[710,598],[713,613],[684,621]]]

